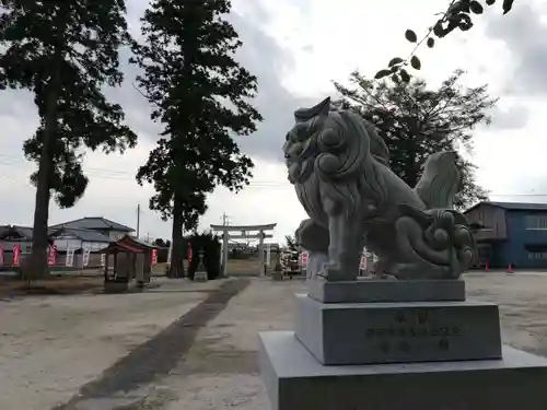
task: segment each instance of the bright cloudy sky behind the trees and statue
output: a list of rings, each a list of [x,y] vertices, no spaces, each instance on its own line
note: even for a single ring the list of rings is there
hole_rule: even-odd
[[[279,241],[292,233],[305,218],[281,162],[293,110],[335,96],[331,81],[346,82],[354,69],[372,77],[389,58],[407,55],[411,45],[404,39],[404,31],[422,33],[444,2],[420,0],[417,7],[416,1],[405,0],[373,5],[358,0],[233,0],[231,21],[244,42],[237,58],[258,77],[255,104],[265,120],[255,134],[240,140],[256,164],[252,185],[237,196],[218,189],[209,199],[201,229],[221,223],[225,212],[237,225],[276,222]],[[137,34],[148,1],[127,3],[130,26]],[[499,9],[497,4],[478,17],[473,31],[443,39],[432,50],[420,50],[421,74],[438,84],[462,68],[468,72],[468,85],[489,84],[500,103],[491,127],[476,132],[478,180],[493,200],[544,202],[547,4],[519,0],[505,16]],[[133,177],[153,148],[159,128],[148,119],[150,107],[131,85],[135,69],[126,71],[124,87],[108,95],[123,104],[139,144],[124,155],[90,153],[85,168],[91,184],[85,197],[69,210],[53,204],[50,222],[102,215],[135,227],[140,203],[141,236],[166,238],[170,223],[148,210],[151,187],[139,187]],[[24,160],[21,145],[37,126],[32,95],[2,92],[0,116],[4,136],[0,141],[0,224],[31,225],[35,190],[28,175],[33,164]]]

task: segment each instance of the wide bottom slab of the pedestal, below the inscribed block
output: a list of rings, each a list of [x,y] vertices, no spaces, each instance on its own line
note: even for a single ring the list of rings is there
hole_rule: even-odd
[[[272,410],[545,410],[547,359],[503,347],[503,359],[323,366],[292,331],[259,335]]]

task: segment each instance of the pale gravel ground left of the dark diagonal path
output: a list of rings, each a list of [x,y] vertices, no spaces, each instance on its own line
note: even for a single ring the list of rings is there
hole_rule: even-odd
[[[221,281],[0,301],[0,409],[47,410],[203,301]]]

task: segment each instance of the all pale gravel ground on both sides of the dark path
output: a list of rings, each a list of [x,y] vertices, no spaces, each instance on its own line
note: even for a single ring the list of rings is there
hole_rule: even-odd
[[[505,343],[547,355],[547,273],[473,273],[466,281],[469,298],[500,304]],[[170,324],[181,323],[181,315],[207,296],[182,294],[183,289],[0,304],[0,409],[49,409],[68,400],[84,383],[96,382],[119,356]],[[254,279],[228,306],[210,303],[217,316],[209,315],[205,327],[194,329],[194,344],[171,363],[166,376],[131,391],[81,401],[73,409],[269,410],[258,376],[257,333],[291,329],[293,294],[303,290],[304,283],[298,280]]]

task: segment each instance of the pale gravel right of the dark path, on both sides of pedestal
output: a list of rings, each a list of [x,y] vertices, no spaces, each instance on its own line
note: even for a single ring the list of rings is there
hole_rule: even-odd
[[[501,305],[505,343],[547,355],[547,273],[467,274],[468,297]],[[255,280],[209,326],[172,375],[156,385],[171,395],[150,409],[269,410],[256,362],[257,332],[292,328],[293,293],[303,282]],[[178,398],[173,398],[178,397]]]

